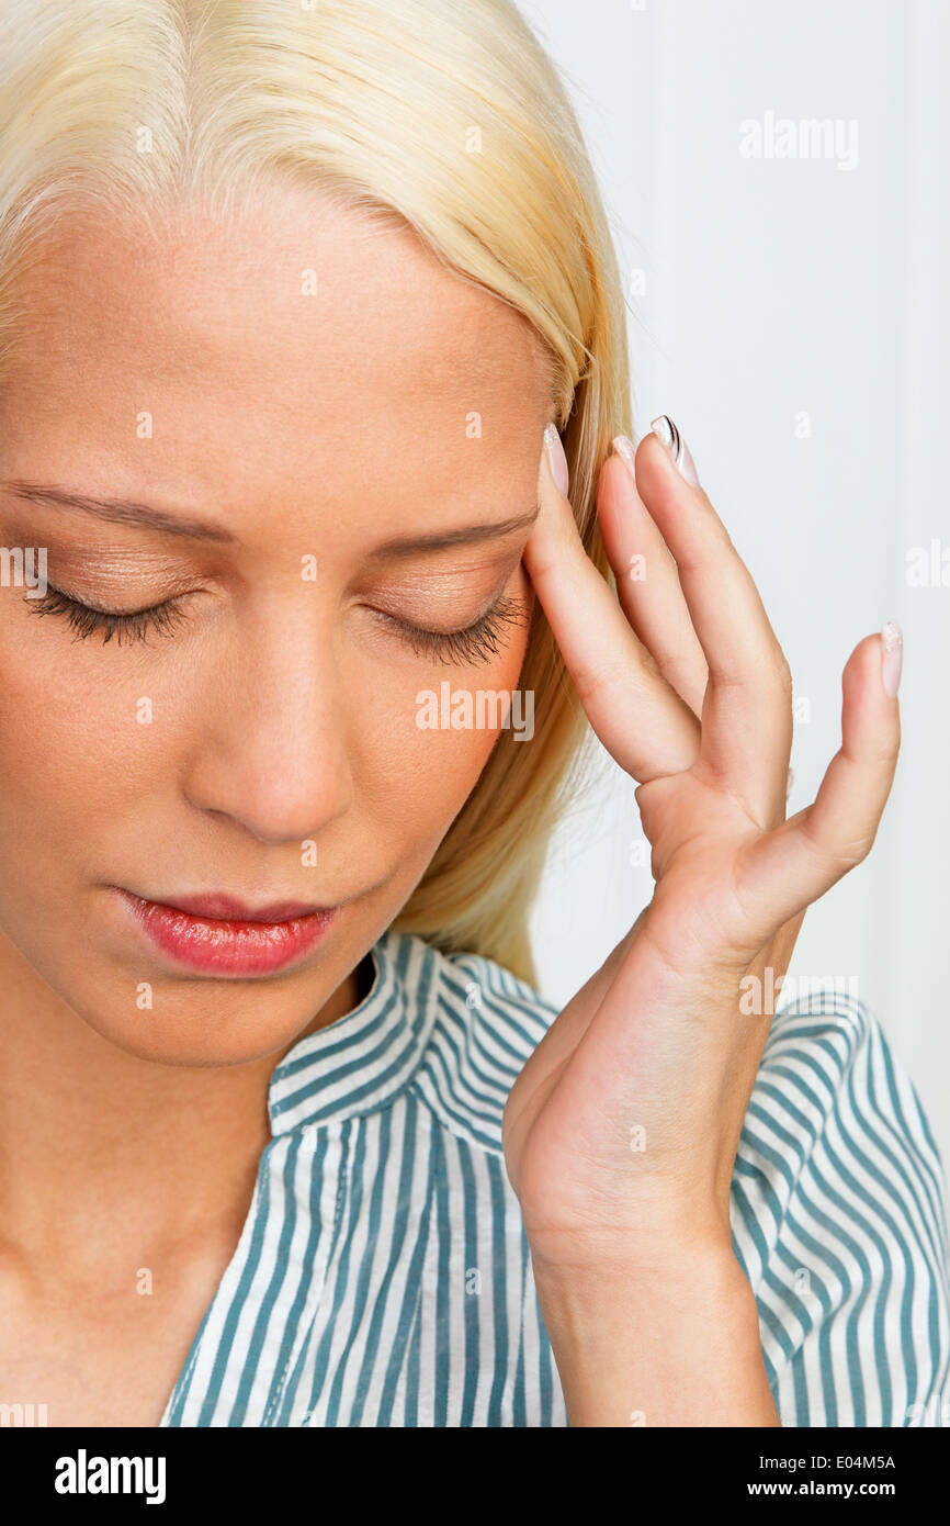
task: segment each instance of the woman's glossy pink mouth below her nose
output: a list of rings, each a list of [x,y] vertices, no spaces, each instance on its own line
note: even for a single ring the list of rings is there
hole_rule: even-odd
[[[303,958],[323,937],[335,906],[297,900],[249,908],[232,896],[145,900],[119,890],[145,937],[178,964],[215,975],[273,975]]]

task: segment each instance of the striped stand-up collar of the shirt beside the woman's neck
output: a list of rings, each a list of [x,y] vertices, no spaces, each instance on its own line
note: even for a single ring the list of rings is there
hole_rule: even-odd
[[[412,1080],[436,1018],[438,955],[392,929],[369,954],[375,975],[360,1006],[300,1039],[274,1068],[267,1094],[274,1137],[375,1112]]]

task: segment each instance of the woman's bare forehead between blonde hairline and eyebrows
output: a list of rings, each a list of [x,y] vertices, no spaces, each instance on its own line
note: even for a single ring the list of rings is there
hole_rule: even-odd
[[[40,432],[93,472],[108,455],[113,473],[133,461],[140,473],[145,436],[149,470],[189,490],[242,464],[343,490],[354,455],[363,472],[383,452],[436,470],[476,436],[503,459],[549,417],[522,314],[409,227],[310,188],[241,203],[227,223],[183,206],[156,237],[73,214],[17,296],[26,328],[0,388],[5,438],[29,446]]]

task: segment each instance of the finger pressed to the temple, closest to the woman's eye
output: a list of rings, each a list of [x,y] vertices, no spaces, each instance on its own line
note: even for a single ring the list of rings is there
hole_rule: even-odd
[[[547,449],[538,504],[525,568],[596,736],[640,781],[689,768],[700,745],[697,719],[657,671],[584,551]]]

